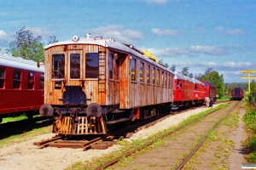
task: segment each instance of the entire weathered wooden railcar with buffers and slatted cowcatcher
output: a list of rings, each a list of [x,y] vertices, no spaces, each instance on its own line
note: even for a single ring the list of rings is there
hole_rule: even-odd
[[[90,34],[45,48],[42,116],[54,133],[108,133],[108,126],[169,111],[173,73],[132,45]]]

